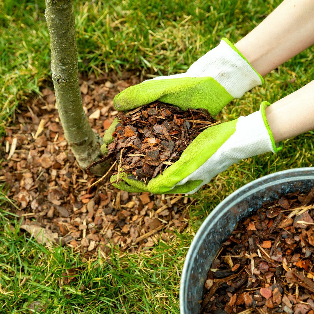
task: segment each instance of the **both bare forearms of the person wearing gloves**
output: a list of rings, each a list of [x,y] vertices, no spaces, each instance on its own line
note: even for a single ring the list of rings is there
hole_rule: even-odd
[[[235,46],[264,76],[314,44],[313,12],[313,0],[284,0]],[[314,81],[265,113],[276,142],[314,129]]]

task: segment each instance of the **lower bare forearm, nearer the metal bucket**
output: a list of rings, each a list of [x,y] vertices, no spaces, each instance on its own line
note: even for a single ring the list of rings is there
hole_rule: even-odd
[[[265,110],[275,142],[314,129],[314,81],[274,102]]]

